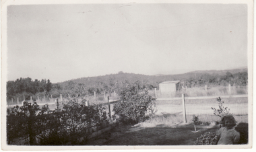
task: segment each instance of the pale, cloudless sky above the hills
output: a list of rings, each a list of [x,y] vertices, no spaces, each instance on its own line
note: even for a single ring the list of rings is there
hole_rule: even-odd
[[[7,6],[7,81],[247,67],[246,4]]]

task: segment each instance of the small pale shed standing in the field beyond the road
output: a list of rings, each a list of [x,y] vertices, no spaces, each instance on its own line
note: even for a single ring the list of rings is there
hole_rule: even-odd
[[[180,81],[164,81],[159,83],[160,93],[166,94],[178,91],[180,85],[179,83]]]

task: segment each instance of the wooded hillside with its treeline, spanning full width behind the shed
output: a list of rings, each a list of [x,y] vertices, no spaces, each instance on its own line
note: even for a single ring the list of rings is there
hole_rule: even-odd
[[[104,75],[98,77],[83,77],[72,79],[62,83],[52,84],[50,80],[37,79],[32,81],[28,78],[20,78],[15,81],[7,82],[7,100],[11,98],[22,98],[28,100],[33,98],[53,98],[70,94],[71,96],[93,96],[94,91],[97,94],[113,92],[118,89],[125,81],[143,81],[149,89],[159,87],[163,81],[179,80],[184,82],[187,87],[207,86],[227,86],[228,84],[236,86],[245,86],[248,83],[247,69],[234,69],[226,71],[194,71],[180,75],[139,75],[134,73],[123,73]]]

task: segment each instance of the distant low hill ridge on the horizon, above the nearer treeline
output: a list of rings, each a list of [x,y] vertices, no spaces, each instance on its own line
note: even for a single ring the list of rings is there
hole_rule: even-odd
[[[163,81],[186,81],[187,79],[198,79],[199,77],[205,77],[205,75],[210,75],[212,77],[217,77],[226,75],[226,73],[244,73],[247,72],[247,68],[245,69],[228,69],[228,70],[207,70],[207,71],[191,71],[189,73],[183,73],[178,75],[141,75],[134,73],[117,73],[111,75],[104,75],[98,77],[82,77],[79,79],[72,79],[69,81],[64,81],[62,83],[58,83],[65,87],[72,81],[72,83],[83,84],[86,87],[98,87],[104,85],[110,85],[110,83],[117,83],[121,81],[146,81],[152,84],[153,87],[158,87],[159,83]],[[208,77],[208,76],[207,76]]]

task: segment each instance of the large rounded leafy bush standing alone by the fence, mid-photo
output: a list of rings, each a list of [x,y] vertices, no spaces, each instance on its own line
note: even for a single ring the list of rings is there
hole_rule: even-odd
[[[125,124],[135,124],[146,120],[146,114],[153,114],[155,101],[146,84],[139,81],[124,83],[119,88],[119,96],[123,102],[115,104],[114,118]]]

